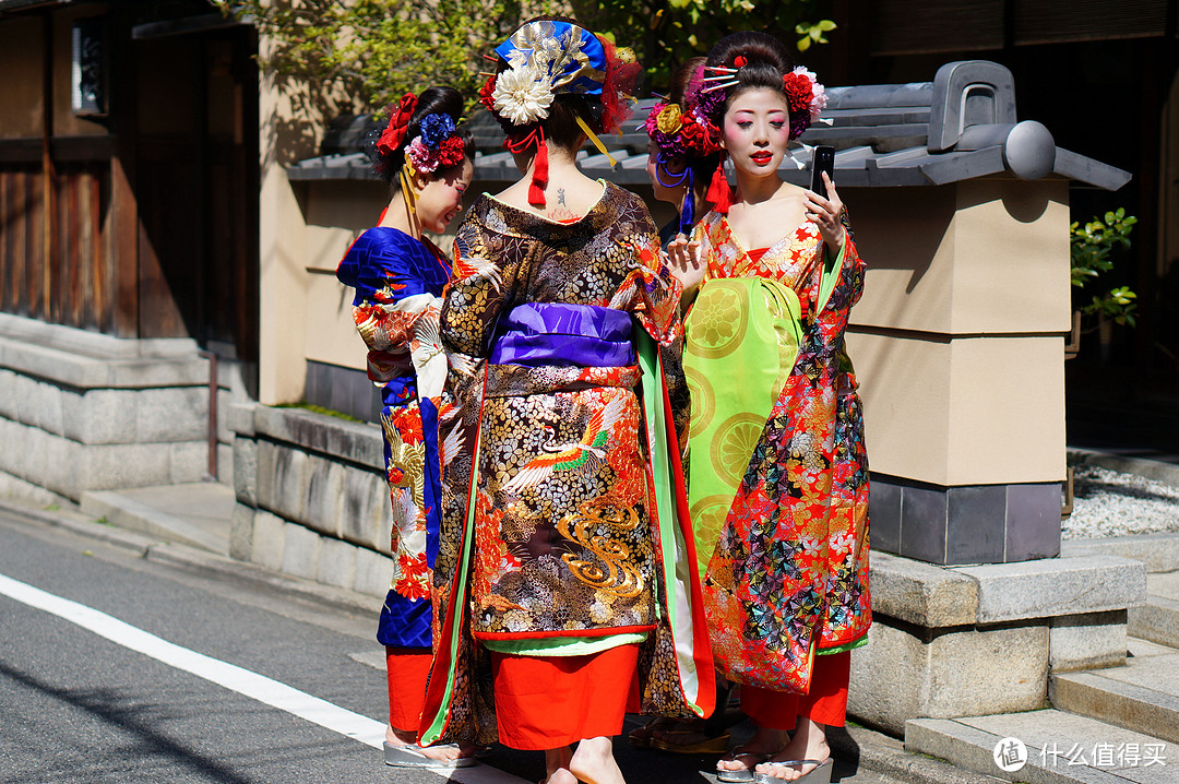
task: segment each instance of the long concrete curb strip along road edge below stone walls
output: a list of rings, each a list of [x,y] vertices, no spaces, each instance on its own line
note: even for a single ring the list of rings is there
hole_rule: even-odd
[[[376,618],[381,599],[354,591],[337,588],[315,580],[277,574],[245,561],[235,561],[179,542],[162,541],[151,535],[99,523],[92,516],[74,509],[45,510],[0,499],[0,510],[50,526],[64,528],[81,536],[136,552],[150,561],[178,566],[190,572],[244,580],[259,587],[285,591],[305,599],[314,599],[349,612],[363,612]]]

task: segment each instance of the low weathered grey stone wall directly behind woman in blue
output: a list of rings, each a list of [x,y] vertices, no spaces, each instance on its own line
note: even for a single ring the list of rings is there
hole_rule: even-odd
[[[253,403],[231,407],[230,429],[230,555],[383,598],[393,518],[380,428]]]

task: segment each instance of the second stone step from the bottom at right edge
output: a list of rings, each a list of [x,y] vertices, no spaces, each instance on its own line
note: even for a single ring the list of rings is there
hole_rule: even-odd
[[[1179,651],[1162,651],[1124,667],[1054,674],[1048,698],[1061,711],[1179,743]]]

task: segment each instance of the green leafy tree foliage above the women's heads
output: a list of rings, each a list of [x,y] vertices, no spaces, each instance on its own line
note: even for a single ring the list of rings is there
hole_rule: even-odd
[[[259,65],[309,119],[395,103],[406,92],[450,85],[474,106],[489,70],[483,55],[538,14],[572,13],[635,51],[648,84],[666,85],[684,60],[723,35],[766,31],[799,51],[826,42],[835,22],[815,0],[212,0],[251,18],[266,45]]]

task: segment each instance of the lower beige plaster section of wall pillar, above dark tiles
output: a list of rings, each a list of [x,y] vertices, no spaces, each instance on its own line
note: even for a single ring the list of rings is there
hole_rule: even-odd
[[[1065,479],[1063,337],[848,334],[874,472],[941,486]]]

